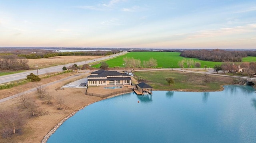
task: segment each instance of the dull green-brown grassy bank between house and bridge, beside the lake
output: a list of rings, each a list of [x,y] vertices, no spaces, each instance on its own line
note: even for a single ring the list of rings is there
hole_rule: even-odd
[[[206,84],[205,75],[180,71],[136,71],[137,80],[142,79],[154,90],[184,90],[184,91],[217,91],[222,90],[222,85],[234,84],[234,78],[213,76],[208,74],[209,82]],[[166,82],[166,78],[174,78],[174,84]]]

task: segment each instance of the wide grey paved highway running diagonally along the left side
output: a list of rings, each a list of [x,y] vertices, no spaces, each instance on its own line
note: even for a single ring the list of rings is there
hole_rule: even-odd
[[[121,52],[121,53],[117,53],[114,54],[114,57],[119,56],[119,55],[124,55],[127,52]],[[88,61],[82,61],[82,62],[76,62],[76,65],[84,65],[85,62],[86,63],[93,63],[95,61],[102,61],[102,60],[106,60],[106,59],[110,59],[110,58],[114,58],[112,57],[112,55],[108,55],[106,57],[101,57],[98,59],[92,59],[92,60],[88,60]],[[70,65],[74,65],[74,63],[69,63],[66,65],[59,65],[59,66],[54,66],[54,67],[49,67],[49,68],[44,68],[44,69],[38,69],[38,70],[32,70],[32,71],[25,71],[25,72],[20,72],[20,73],[16,73],[16,74],[9,74],[9,75],[5,75],[5,76],[0,76],[0,84],[2,83],[7,83],[7,82],[12,82],[15,80],[21,80],[21,79],[25,79],[27,75],[29,75],[30,73],[33,73],[35,75],[40,74],[45,74],[47,72],[62,72],[62,68],[68,67]]]

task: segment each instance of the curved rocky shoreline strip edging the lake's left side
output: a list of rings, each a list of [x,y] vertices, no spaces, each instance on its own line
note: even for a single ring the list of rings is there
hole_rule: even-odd
[[[133,92],[133,91],[131,91]],[[62,125],[67,119],[69,119],[70,117],[74,116],[77,112],[79,112],[80,110],[86,108],[86,106],[89,106],[90,104],[94,104],[95,102],[99,102],[108,98],[113,98],[115,96],[120,96],[122,94],[126,94],[126,93],[131,93],[131,92],[124,92],[124,93],[120,93],[120,94],[114,94],[112,96],[108,96],[106,98],[102,98],[101,100],[98,101],[94,101],[94,102],[90,102],[88,104],[86,104],[85,106],[82,106],[82,108],[79,108],[78,110],[72,112],[71,114],[69,114],[68,116],[66,116],[64,119],[62,119],[58,124],[56,124],[42,139],[41,143],[46,143],[48,141],[48,139],[50,138],[50,136],[55,133],[55,131],[60,127],[60,125]]]

